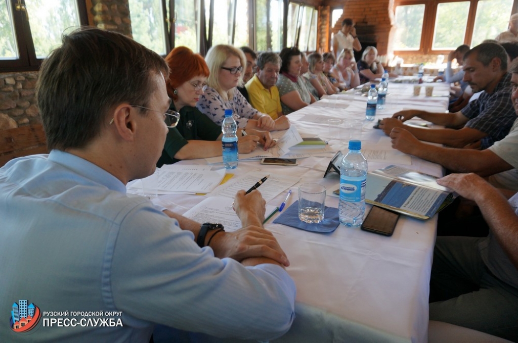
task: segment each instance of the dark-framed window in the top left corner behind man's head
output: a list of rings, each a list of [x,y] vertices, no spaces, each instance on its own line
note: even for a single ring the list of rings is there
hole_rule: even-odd
[[[87,24],[84,1],[0,2],[0,68],[35,70],[61,45],[61,37]]]

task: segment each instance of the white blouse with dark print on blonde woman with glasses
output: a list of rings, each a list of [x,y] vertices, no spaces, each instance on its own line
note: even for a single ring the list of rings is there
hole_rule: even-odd
[[[234,98],[225,101],[218,91],[212,87],[207,87],[207,90],[196,103],[196,107],[220,126],[225,118],[225,110],[230,109],[239,128],[247,126],[249,119],[263,114],[254,109],[238,90],[234,90]]]

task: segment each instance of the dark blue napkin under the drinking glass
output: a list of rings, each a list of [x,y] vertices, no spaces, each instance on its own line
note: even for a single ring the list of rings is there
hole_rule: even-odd
[[[279,217],[274,220],[276,224],[283,224],[293,228],[312,232],[333,232],[340,225],[338,208],[324,206],[324,220],[319,223],[308,224],[298,219],[298,200],[286,208]]]

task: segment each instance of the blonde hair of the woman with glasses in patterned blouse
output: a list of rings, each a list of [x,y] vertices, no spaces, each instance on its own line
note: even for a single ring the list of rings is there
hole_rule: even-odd
[[[213,46],[207,52],[207,56],[205,56],[205,62],[207,62],[207,66],[210,70],[209,77],[207,78],[207,85],[218,91],[218,93],[225,101],[232,99],[235,94],[234,92],[236,92],[236,88],[232,88],[232,90],[224,92],[220,83],[221,67],[225,64],[227,58],[230,56],[238,57],[241,63],[241,67],[246,67],[247,59],[244,56],[244,53],[241,51],[241,49],[235,48],[231,45],[219,44],[217,46]],[[241,75],[239,76],[238,86],[242,87],[244,74],[243,70],[240,74]]]

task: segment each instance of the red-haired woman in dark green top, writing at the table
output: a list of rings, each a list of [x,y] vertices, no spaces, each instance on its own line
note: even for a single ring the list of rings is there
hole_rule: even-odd
[[[171,73],[166,81],[167,93],[171,98],[171,110],[180,112],[180,120],[175,128],[170,128],[157,167],[178,162],[182,159],[207,158],[222,155],[221,126],[212,122],[195,106],[207,87],[205,81],[209,68],[204,58],[191,49],[172,49],[165,58]],[[255,150],[260,142],[265,150],[275,144],[270,133],[238,129],[239,153],[247,154]]]

